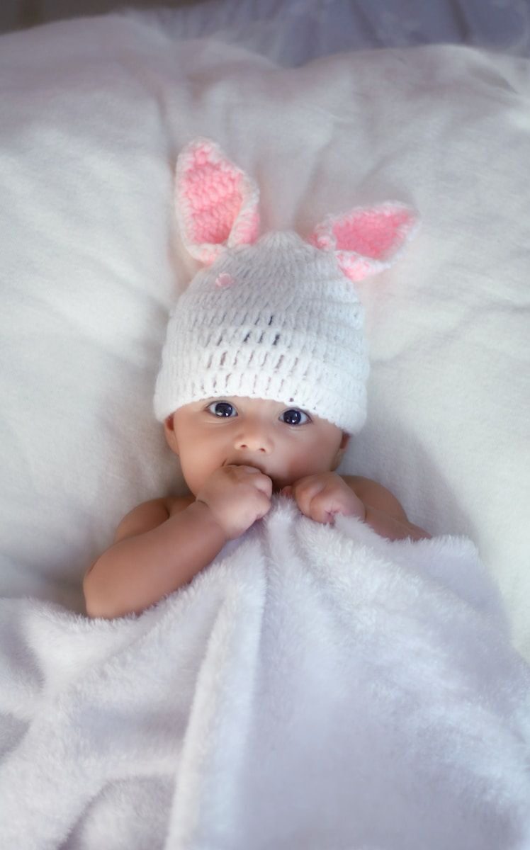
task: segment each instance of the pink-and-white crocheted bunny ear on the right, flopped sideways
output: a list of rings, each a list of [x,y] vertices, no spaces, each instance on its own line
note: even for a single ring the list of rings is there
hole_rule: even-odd
[[[414,235],[418,219],[410,207],[394,201],[378,207],[355,207],[343,215],[328,216],[313,230],[311,245],[334,251],[350,280],[376,275],[391,265],[402,246]]]

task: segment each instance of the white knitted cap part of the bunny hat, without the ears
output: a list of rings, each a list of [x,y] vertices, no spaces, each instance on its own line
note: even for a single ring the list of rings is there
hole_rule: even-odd
[[[169,320],[155,405],[274,399],[354,433],[366,418],[364,312],[331,253],[277,232],[199,272]]]

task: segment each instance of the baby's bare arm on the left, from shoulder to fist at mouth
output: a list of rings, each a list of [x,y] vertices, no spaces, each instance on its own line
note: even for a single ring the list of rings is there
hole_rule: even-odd
[[[265,516],[271,491],[271,479],[258,469],[225,466],[203,484],[196,501],[185,507],[182,500],[173,515],[163,499],[134,508],[84,577],[88,616],[139,614],[191,581],[226,541]]]

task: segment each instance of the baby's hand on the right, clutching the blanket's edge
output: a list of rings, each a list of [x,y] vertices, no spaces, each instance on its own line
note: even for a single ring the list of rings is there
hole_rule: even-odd
[[[361,499],[337,473],[316,473],[289,484],[282,490],[293,496],[302,513],[317,523],[333,522],[336,513],[365,519],[366,509]]]

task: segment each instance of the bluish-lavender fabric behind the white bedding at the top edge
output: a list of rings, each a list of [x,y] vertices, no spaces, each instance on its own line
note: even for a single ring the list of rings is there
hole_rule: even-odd
[[[343,50],[431,43],[530,55],[527,0],[195,0],[151,14],[174,38],[244,44],[289,67]]]

